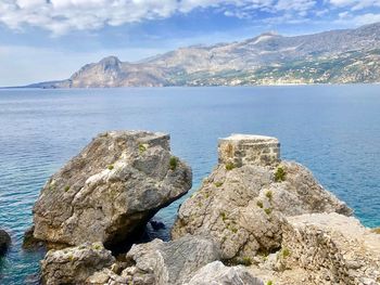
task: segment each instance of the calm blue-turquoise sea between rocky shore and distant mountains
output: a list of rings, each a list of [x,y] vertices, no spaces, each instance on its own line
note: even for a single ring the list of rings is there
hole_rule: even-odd
[[[283,158],[380,226],[380,86],[0,90],[0,228],[13,239],[0,284],[34,283],[42,252],[21,243],[48,177],[97,133],[119,129],[169,132],[192,166],[192,191],[216,164],[218,138],[277,137]],[[179,204],[156,219],[169,225]]]

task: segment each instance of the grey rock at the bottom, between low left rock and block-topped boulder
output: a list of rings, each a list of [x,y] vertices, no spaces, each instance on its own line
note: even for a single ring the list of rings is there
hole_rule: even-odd
[[[154,239],[134,245],[124,264],[94,273],[87,284],[179,285],[219,257],[218,247],[203,237],[188,235],[168,243]]]

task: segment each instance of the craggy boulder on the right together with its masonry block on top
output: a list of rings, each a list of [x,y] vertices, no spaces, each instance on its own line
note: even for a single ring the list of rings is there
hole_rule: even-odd
[[[305,167],[280,160],[277,139],[235,134],[219,141],[219,164],[178,211],[174,239],[211,236],[223,259],[241,262],[281,247],[286,217],[352,210]]]

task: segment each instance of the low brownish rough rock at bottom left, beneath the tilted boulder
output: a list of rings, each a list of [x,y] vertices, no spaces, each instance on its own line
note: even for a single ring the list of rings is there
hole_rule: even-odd
[[[84,284],[88,276],[114,261],[101,243],[50,250],[41,261],[42,284]]]

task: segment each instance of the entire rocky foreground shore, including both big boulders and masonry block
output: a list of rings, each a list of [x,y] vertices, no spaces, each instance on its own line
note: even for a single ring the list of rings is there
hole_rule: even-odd
[[[30,241],[52,248],[42,284],[380,283],[380,235],[276,138],[219,140],[218,165],[179,208],[170,242],[125,246],[191,187],[169,135],[98,135],[53,174],[34,207]],[[117,252],[117,254],[116,254]]]

